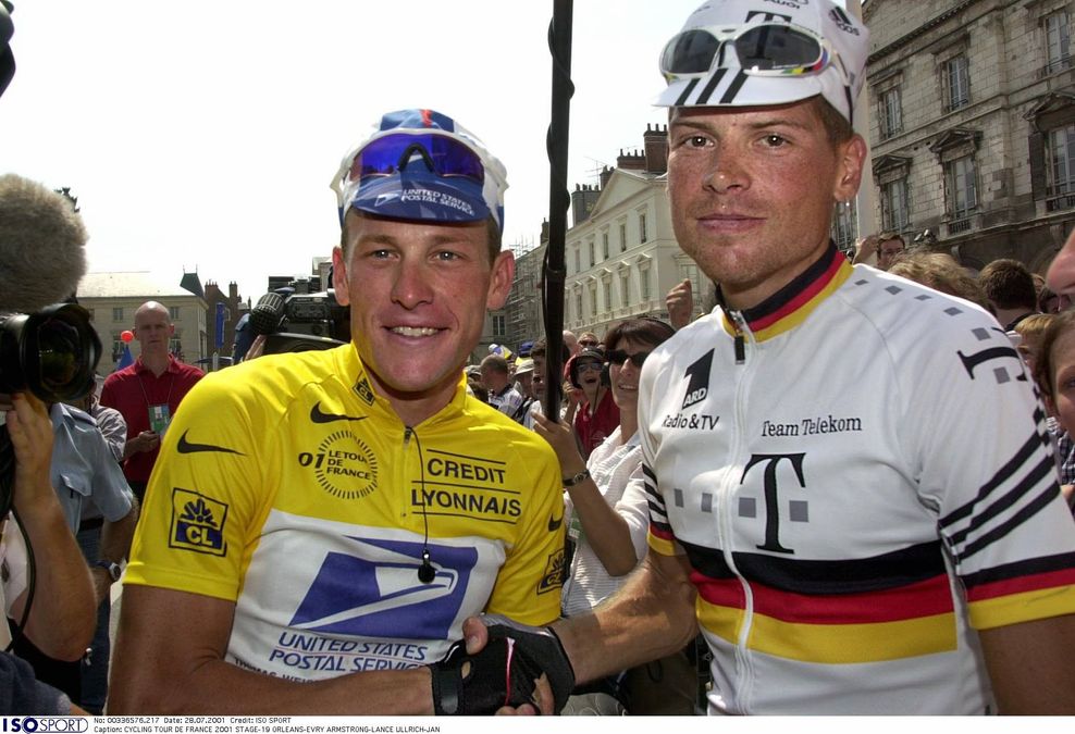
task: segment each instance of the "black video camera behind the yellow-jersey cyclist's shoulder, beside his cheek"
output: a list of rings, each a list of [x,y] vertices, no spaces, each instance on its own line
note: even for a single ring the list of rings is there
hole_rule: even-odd
[[[350,341],[350,311],[335,290],[298,293],[293,281],[258,299],[250,309],[250,329],[265,336],[265,354],[331,349]]]

